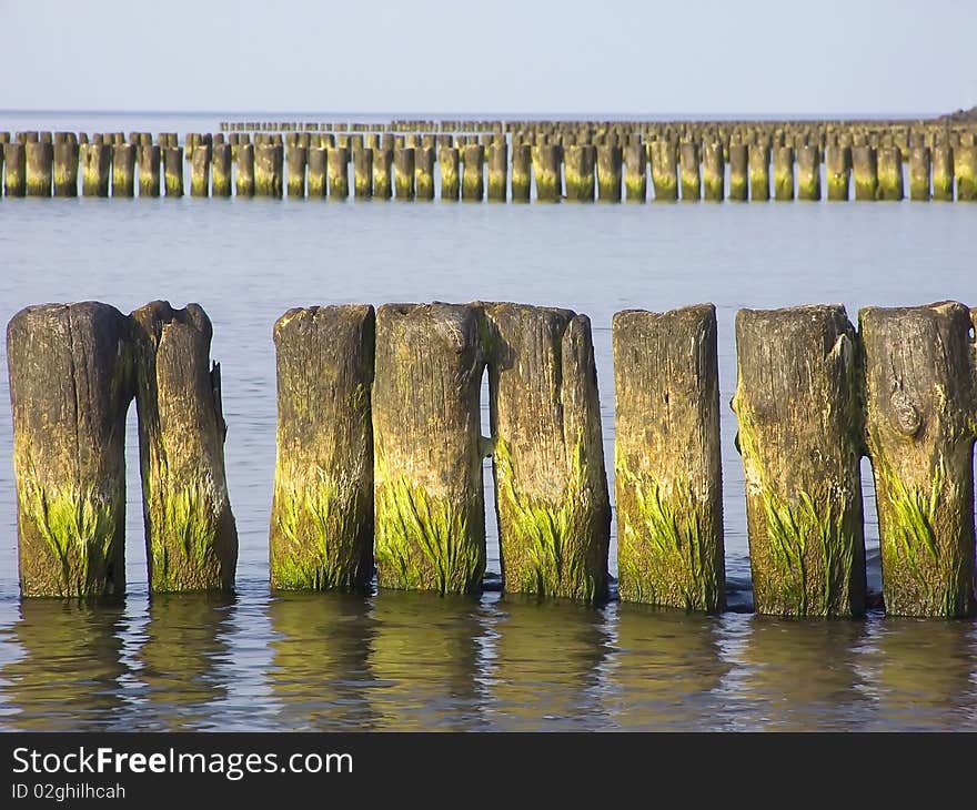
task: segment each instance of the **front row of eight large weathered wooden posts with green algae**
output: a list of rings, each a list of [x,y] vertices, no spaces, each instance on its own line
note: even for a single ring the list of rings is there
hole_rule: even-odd
[[[975,608],[977,313],[956,302],[742,310],[732,402],[756,610],[866,606],[860,459],[875,477],[889,614]],[[622,599],[725,606],[711,304],[613,321]],[[273,331],[270,578],[284,589],[474,593],[492,458],[506,591],[600,603],[611,506],[591,323],[510,303],[295,308]],[[210,322],[157,302],[29,307],[8,327],[21,588],[119,590],[125,412],[139,404],[150,585],[229,588]],[[481,432],[488,372],[490,436]]]

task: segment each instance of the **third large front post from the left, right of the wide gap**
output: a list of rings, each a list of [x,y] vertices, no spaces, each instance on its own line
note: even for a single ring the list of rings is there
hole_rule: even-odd
[[[367,305],[289,310],[274,325],[272,587],[359,588],[373,577],[373,337]]]

